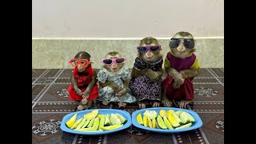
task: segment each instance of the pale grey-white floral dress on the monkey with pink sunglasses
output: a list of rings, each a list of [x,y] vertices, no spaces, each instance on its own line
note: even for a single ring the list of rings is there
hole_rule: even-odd
[[[106,81],[114,82],[118,86],[121,86],[123,88],[124,81],[126,79],[130,78],[130,71],[129,69],[124,66],[121,70],[119,70],[117,73],[113,74],[110,73],[106,69],[102,69],[98,72],[98,81],[105,83]],[[110,86],[100,87],[99,90],[99,96],[98,101],[106,100],[106,102],[136,102],[136,98],[129,93],[129,90],[126,94],[120,96],[115,96],[115,91]]]

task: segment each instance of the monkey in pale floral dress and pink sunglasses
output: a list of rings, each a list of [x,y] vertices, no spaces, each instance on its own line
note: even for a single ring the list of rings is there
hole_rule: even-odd
[[[128,93],[130,70],[124,66],[126,58],[116,51],[109,52],[102,59],[102,70],[97,74],[99,82],[98,101],[103,105],[118,102],[118,106],[126,107],[126,103],[136,102],[136,98]]]

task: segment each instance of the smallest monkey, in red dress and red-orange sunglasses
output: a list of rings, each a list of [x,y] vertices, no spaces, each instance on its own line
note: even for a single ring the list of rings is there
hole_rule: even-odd
[[[98,98],[97,74],[91,66],[90,54],[80,51],[70,59],[70,64],[74,66],[74,70],[71,85],[67,89],[69,99],[78,105],[78,111],[88,109],[93,100]]]

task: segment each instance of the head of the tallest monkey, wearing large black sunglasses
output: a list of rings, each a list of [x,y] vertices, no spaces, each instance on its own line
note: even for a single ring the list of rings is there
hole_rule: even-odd
[[[194,52],[194,39],[191,36],[182,37],[176,34],[170,39],[169,46],[175,57],[186,58]]]

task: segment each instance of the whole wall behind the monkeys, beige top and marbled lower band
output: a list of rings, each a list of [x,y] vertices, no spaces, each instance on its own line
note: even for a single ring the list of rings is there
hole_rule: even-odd
[[[181,30],[197,39],[202,67],[224,66],[223,0],[33,0],[32,68],[72,68],[68,60],[80,50],[96,68],[112,50],[132,67],[139,39],[158,38],[166,55]]]

